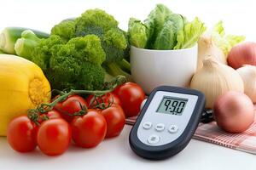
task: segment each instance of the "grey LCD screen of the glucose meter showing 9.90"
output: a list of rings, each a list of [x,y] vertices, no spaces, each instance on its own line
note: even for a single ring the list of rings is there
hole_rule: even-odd
[[[188,99],[164,96],[156,112],[181,116]]]

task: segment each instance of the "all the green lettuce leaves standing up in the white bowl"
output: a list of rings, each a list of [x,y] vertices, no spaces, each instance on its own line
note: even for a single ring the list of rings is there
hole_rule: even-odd
[[[131,45],[163,50],[191,48],[206,30],[198,18],[188,22],[181,14],[173,14],[163,4],[156,5],[144,23],[131,18],[128,27]]]

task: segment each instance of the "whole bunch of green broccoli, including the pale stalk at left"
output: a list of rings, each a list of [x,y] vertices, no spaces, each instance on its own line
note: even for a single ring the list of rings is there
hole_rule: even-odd
[[[113,16],[100,9],[54,26],[49,38],[25,31],[15,50],[39,65],[55,89],[102,89],[106,75],[131,80],[128,37]],[[65,68],[65,69],[63,69]]]

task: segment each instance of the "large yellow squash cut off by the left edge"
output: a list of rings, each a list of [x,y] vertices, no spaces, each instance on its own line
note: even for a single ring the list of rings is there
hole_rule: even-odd
[[[6,136],[13,117],[49,100],[49,82],[38,65],[15,55],[0,54],[0,136]]]

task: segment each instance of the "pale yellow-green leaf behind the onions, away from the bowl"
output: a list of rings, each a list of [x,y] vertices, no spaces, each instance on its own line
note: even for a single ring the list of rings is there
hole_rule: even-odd
[[[230,49],[237,43],[245,40],[244,36],[225,35],[223,22],[219,21],[213,28],[212,39],[216,45],[221,48],[225,55],[230,52]]]

